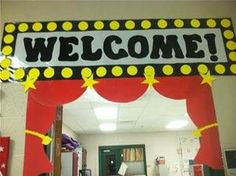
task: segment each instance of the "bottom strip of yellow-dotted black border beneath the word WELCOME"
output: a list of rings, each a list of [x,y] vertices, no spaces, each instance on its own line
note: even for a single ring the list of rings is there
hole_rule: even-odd
[[[217,63],[214,67],[210,67],[208,64],[161,64],[151,65],[154,69],[155,77],[169,77],[169,76],[194,76],[199,74],[205,74],[210,71],[212,75],[235,75],[235,65],[231,64],[228,67],[225,63]],[[94,79],[100,78],[132,78],[132,77],[144,77],[146,68],[149,65],[99,65],[99,66],[86,66],[86,67],[40,67],[40,68],[18,68],[11,73],[10,78],[15,81],[23,81],[26,76],[37,76],[38,80],[62,80],[62,79],[83,79],[94,75]],[[8,68],[1,68],[7,70]],[[216,74],[214,74],[216,73]]]

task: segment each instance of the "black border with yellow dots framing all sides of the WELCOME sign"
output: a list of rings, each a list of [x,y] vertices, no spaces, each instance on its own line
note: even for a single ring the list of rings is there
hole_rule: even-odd
[[[213,63],[205,64],[205,63],[183,63],[183,64],[153,64],[155,68],[156,76],[189,76],[189,75],[198,75],[200,71],[204,71],[204,69],[211,68],[211,74],[213,75],[235,75],[235,64],[236,64],[236,48],[235,44],[235,33],[232,26],[232,20],[230,18],[192,18],[192,19],[125,19],[125,20],[79,20],[79,21],[48,21],[48,22],[20,22],[20,23],[6,23],[4,26],[4,33],[2,37],[2,49],[1,51],[5,55],[14,56],[15,44],[17,40],[18,33],[41,33],[41,32],[86,32],[86,31],[132,31],[132,30],[165,30],[165,29],[221,29],[222,38],[224,40],[227,63]],[[37,34],[36,34],[37,35]],[[119,64],[119,63],[117,63]],[[201,66],[199,66],[201,65]],[[202,65],[205,65],[202,66]],[[232,66],[233,65],[233,66]],[[116,67],[114,69],[113,67]],[[65,66],[66,67],[66,66]],[[40,77],[42,80],[50,80],[50,79],[77,79],[81,77],[81,70],[77,70],[72,67],[68,67],[69,70],[72,70],[72,73],[66,73],[63,76],[61,70],[65,67],[60,68],[41,68],[40,69]],[[98,65],[98,66],[87,66],[87,68],[92,70],[94,77],[96,78],[107,78],[107,77],[138,77],[143,76],[142,66],[138,65],[114,65],[114,66],[106,66],[106,65]],[[112,71],[113,68],[113,71]],[[141,69],[140,69],[141,68]],[[232,69],[233,68],[233,69]],[[6,68],[1,68],[2,69]],[[16,68],[23,69],[22,73],[17,72],[15,80],[22,80],[27,75],[27,68]],[[78,69],[82,69],[79,67]],[[200,71],[199,71],[200,70]],[[67,70],[68,71],[68,70]],[[21,74],[19,74],[21,73]],[[69,75],[68,75],[69,74]],[[22,76],[24,75],[24,76]],[[61,75],[59,78],[58,75]],[[11,73],[11,78],[14,80],[14,70]],[[5,80],[4,80],[5,81]]]

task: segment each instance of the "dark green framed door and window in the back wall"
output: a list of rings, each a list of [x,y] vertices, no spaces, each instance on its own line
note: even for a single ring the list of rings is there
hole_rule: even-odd
[[[119,176],[122,163],[130,174],[147,175],[145,145],[99,147],[99,176]]]

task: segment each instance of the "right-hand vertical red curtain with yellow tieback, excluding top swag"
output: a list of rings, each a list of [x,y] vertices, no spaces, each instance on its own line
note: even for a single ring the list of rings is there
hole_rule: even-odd
[[[199,79],[191,84],[186,102],[188,114],[198,128],[217,122],[211,88],[200,82]],[[200,144],[195,162],[216,170],[223,169],[218,128],[203,131]]]

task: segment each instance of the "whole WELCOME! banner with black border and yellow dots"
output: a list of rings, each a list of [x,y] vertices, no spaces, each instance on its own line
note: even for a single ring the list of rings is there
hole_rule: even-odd
[[[229,18],[6,23],[2,81],[236,74],[236,40]]]

